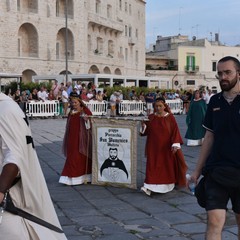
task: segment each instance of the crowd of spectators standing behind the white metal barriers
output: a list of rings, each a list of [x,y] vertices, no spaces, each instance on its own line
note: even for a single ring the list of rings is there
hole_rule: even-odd
[[[190,102],[192,100],[192,90],[180,92],[179,90],[161,91],[160,89],[148,89],[147,91],[141,91],[137,93],[137,90],[132,88],[128,91],[122,92],[121,89],[107,94],[106,89],[97,89],[96,86],[89,82],[88,84],[77,81],[75,83],[67,82],[66,84],[58,84],[57,80],[54,80],[51,89],[48,90],[46,86],[42,85],[39,89],[33,88],[29,90],[16,90],[14,93],[11,89],[8,90],[8,96],[13,98],[15,102],[19,104],[22,110],[26,111],[26,103],[28,101],[47,101],[58,100],[60,103],[60,115],[66,117],[71,106],[71,98],[79,97],[83,101],[107,101],[109,102],[109,108],[115,114],[119,114],[119,103],[122,100],[130,101],[142,101],[146,103],[146,109],[148,114],[152,109],[152,105],[155,100],[162,97],[166,100],[181,99],[183,101],[184,113],[188,112]],[[210,97],[213,95],[210,89],[202,91],[203,99],[208,104]]]

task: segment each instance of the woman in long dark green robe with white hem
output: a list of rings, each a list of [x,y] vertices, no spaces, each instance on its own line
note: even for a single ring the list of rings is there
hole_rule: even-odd
[[[185,138],[187,138],[187,146],[202,145],[205,135],[205,128],[202,126],[202,124],[206,110],[207,105],[202,99],[200,91],[196,90],[194,92],[193,100],[190,103],[186,118],[188,128]]]

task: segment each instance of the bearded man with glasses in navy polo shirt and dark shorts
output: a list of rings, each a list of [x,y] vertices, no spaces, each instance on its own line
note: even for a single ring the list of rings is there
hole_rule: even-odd
[[[240,183],[237,181],[240,176],[239,71],[239,60],[234,57],[227,56],[218,62],[216,78],[219,79],[222,92],[212,96],[209,102],[203,123],[206,134],[191,175],[196,183],[202,173],[205,178],[207,240],[221,239],[229,200],[240,233]],[[231,178],[233,181],[230,181]]]

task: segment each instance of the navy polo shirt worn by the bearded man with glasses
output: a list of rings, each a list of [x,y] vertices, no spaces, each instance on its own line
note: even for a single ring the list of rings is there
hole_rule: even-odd
[[[240,96],[230,105],[218,93],[211,97],[203,126],[214,133],[214,143],[205,169],[215,166],[240,168]]]

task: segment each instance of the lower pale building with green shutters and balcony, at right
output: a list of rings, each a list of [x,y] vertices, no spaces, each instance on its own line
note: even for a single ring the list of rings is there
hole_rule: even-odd
[[[225,46],[219,41],[187,36],[158,36],[154,48],[146,54],[147,76],[159,77],[170,83],[172,89],[208,87],[220,91],[216,79],[217,62],[224,56],[240,59],[239,46]]]

